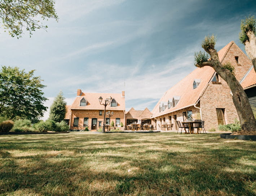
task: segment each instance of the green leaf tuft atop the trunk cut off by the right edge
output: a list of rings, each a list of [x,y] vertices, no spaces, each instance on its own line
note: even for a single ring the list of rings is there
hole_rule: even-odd
[[[240,29],[241,32],[239,33],[239,39],[242,44],[245,44],[246,41],[249,41],[249,37],[247,36],[248,31],[252,31],[256,34],[256,21],[253,16],[249,16],[241,21]]]

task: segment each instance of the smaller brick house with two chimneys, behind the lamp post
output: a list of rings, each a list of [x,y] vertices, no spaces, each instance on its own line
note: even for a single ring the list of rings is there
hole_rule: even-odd
[[[71,106],[66,106],[67,112],[65,120],[70,129],[82,130],[88,127],[89,130],[97,130],[103,126],[104,106],[99,103],[98,98],[105,99],[111,97],[112,102],[106,106],[106,112],[113,112],[111,117],[106,115],[106,124],[114,121],[115,127],[123,129],[120,126],[125,124],[125,96],[124,91],[120,94],[114,93],[83,93],[80,89],[77,91],[77,97]]]

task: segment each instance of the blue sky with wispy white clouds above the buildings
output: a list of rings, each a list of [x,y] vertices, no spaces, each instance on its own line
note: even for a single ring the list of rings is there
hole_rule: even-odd
[[[163,94],[192,72],[205,36],[216,49],[239,43],[241,20],[256,16],[255,0],[56,0],[58,22],[47,31],[11,37],[0,27],[0,65],[36,70],[44,104],[62,91],[71,104],[86,93],[125,91],[125,110],[153,110]],[[47,119],[49,111],[43,119]]]

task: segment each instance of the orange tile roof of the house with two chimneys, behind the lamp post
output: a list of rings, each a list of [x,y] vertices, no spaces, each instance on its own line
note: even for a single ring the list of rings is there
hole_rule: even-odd
[[[81,93],[81,96],[75,98],[71,105],[71,110],[104,110],[104,106],[99,103],[99,97],[102,97],[102,103],[106,98],[112,97],[117,102],[116,107],[108,105],[106,110],[125,110],[125,98],[122,97],[122,93]],[[85,98],[86,106],[80,106],[81,99]],[[105,103],[105,102],[104,102]]]

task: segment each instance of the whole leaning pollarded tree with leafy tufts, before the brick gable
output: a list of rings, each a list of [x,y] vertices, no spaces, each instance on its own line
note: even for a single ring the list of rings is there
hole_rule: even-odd
[[[218,53],[215,49],[215,43],[215,36],[205,37],[202,43],[202,48],[210,55],[211,58],[209,59],[207,54],[202,52],[195,53],[195,66],[210,66],[226,81],[231,89],[233,102],[235,108],[237,109],[242,128],[241,133],[250,132],[251,134],[255,134],[256,121],[253,116],[252,108],[248,101],[247,95],[240,83],[235,78],[234,67],[231,66],[230,63],[223,65],[220,63]]]

